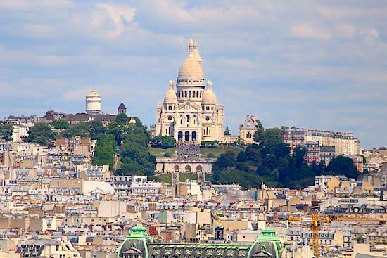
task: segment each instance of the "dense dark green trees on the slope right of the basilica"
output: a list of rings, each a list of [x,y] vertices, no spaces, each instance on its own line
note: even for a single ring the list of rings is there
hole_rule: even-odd
[[[315,176],[322,174],[344,174],[356,178],[357,170],[348,157],[335,157],[328,167],[307,165],[305,150],[296,148],[289,155],[288,146],[282,142],[279,128],[258,129],[254,135],[259,145],[253,144],[245,150],[230,150],[220,155],[212,172],[214,183],[239,183],[243,187],[267,186],[304,188],[314,184]]]

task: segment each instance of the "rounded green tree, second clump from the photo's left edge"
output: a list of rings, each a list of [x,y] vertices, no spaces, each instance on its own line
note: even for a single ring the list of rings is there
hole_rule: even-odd
[[[56,134],[46,122],[39,122],[30,127],[28,137],[24,139],[27,143],[39,143],[42,146],[53,146]]]

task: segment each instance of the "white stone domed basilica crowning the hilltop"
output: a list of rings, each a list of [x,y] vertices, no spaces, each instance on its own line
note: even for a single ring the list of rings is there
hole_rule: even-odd
[[[177,89],[170,81],[164,102],[157,107],[156,135],[177,141],[223,141],[223,105],[217,104],[212,82],[205,87],[196,41],[189,41],[188,57],[179,69]]]

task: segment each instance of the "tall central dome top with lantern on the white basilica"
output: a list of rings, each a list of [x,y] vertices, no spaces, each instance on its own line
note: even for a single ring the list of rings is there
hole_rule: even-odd
[[[188,57],[180,65],[178,79],[204,79],[201,56],[198,52],[196,41],[189,41]]]

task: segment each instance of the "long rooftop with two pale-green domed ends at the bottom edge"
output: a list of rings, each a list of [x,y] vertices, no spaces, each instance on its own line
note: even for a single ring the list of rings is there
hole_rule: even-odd
[[[117,258],[280,258],[284,245],[274,230],[262,230],[250,245],[154,243],[146,228],[135,226],[118,249]]]

